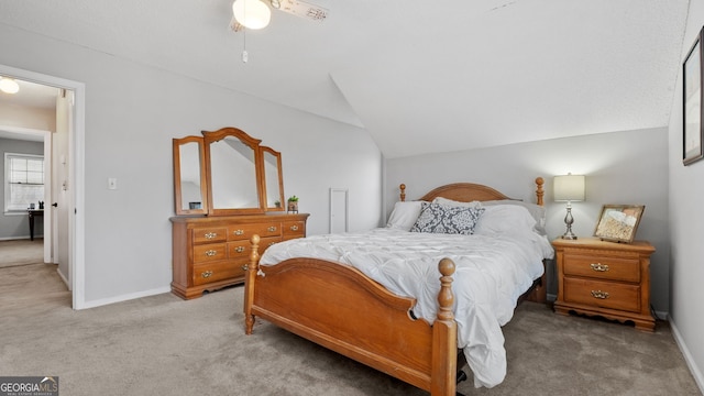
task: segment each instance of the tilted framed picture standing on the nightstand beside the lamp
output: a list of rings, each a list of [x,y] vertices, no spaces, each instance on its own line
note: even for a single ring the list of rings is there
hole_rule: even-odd
[[[594,237],[604,241],[632,242],[645,210],[645,205],[604,205]]]

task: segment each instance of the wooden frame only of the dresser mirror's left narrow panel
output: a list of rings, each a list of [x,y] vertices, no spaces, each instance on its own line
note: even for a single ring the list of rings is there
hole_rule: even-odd
[[[193,164],[183,164],[180,150],[186,144],[196,143],[198,145],[198,162]],[[174,204],[176,215],[206,215],[208,213],[208,186],[206,182],[206,167],[205,167],[205,147],[201,136],[186,136],[182,139],[173,140],[174,146]],[[188,209],[184,208],[184,196],[182,185],[182,166],[198,166],[198,174],[200,175],[200,206],[195,205]],[[194,202],[195,204],[195,202]]]

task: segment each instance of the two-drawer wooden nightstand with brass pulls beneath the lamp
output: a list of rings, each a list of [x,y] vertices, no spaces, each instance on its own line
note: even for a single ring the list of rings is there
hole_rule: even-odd
[[[552,241],[558,267],[554,310],[602,316],[653,331],[650,315],[650,255],[645,241],[616,243],[596,238]]]

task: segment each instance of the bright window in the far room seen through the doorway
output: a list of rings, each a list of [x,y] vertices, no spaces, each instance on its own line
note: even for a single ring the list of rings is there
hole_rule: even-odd
[[[4,154],[4,211],[25,211],[44,200],[44,157]]]

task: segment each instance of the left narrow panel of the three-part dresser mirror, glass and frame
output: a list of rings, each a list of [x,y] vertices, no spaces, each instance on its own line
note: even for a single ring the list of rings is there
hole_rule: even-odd
[[[208,212],[202,138],[174,139],[174,197],[176,215]]]

